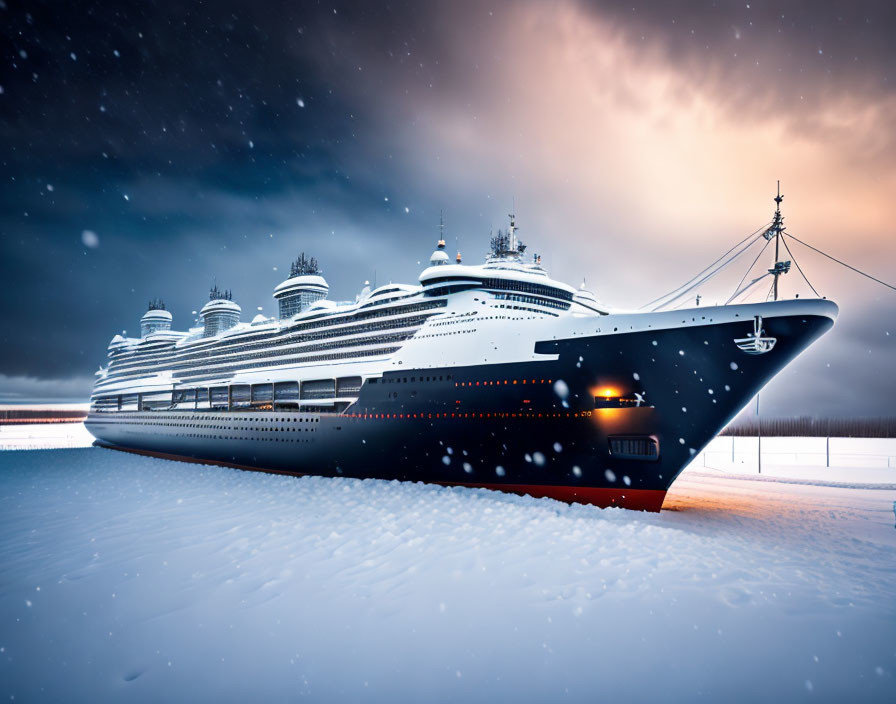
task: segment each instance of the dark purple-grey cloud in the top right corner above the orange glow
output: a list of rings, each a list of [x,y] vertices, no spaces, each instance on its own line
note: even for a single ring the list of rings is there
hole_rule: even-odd
[[[732,94],[748,91],[743,107],[750,93],[759,103],[774,95],[781,109],[791,110],[801,95],[814,100],[836,91],[878,99],[896,91],[892,3],[583,0],[582,6],[661,51],[695,81],[715,76]]]

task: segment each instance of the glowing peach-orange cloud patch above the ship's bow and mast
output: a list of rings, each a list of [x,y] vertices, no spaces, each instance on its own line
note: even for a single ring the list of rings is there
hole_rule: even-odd
[[[770,220],[778,179],[794,233],[888,273],[892,98],[782,103],[763,88],[780,80],[780,56],[672,62],[575,2],[514,4],[463,30],[441,90],[384,109],[410,125],[393,146],[449,198],[488,194],[503,214],[515,196],[555,275],[642,303]]]

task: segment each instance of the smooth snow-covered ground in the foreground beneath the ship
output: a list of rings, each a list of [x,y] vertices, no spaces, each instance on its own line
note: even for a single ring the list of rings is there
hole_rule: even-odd
[[[890,702],[877,486],[698,467],[643,514],[3,452],[0,695]]]

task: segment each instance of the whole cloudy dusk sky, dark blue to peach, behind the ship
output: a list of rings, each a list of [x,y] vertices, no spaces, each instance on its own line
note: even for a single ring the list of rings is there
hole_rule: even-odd
[[[338,300],[414,283],[440,211],[478,262],[515,208],[552,276],[637,308],[780,179],[789,231],[896,281],[893,2],[0,0],[0,33],[0,402],[86,400],[151,298],[274,314],[301,251]],[[892,415],[896,292],[793,254],[841,314],[765,411]]]

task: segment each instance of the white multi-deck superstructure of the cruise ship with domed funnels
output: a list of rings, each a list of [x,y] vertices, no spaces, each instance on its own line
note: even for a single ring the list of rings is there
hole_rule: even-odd
[[[494,354],[488,361],[531,359],[545,321],[607,311],[593,295],[551,279],[538,257],[526,257],[514,229],[511,222],[508,235],[493,238],[487,261],[474,266],[452,263],[442,239],[418,285],[365,289],[352,303],[327,300],[317,262],[303,254],[274,291],[276,320],[239,322],[239,305],[217,287],[200,311],[199,328],[173,331],[168,311],[150,310],[143,322],[153,327],[144,327],[141,338],[116,335],[110,343],[94,407],[339,410],[364,379],[411,359],[426,367],[488,359],[486,348],[502,338],[520,344],[500,345],[505,359]]]

